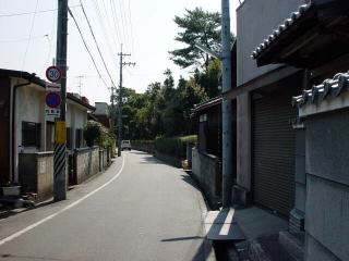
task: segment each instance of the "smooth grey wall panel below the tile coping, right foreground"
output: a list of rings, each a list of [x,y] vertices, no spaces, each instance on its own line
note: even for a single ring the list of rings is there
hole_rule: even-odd
[[[349,260],[349,110],[306,119],[305,260]]]

